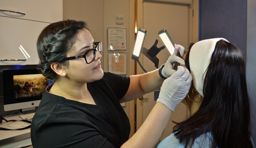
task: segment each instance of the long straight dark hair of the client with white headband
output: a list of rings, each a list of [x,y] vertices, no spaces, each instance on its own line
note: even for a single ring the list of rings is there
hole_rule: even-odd
[[[189,58],[185,63],[189,67]],[[212,148],[253,148],[245,61],[240,49],[233,44],[216,43],[205,75],[203,94],[196,113],[174,126],[179,142],[190,148],[197,137],[211,132],[213,139],[209,145]]]

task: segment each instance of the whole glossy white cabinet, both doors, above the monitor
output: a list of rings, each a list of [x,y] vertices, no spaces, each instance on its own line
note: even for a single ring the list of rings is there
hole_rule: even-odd
[[[38,35],[59,20],[62,0],[0,0],[0,65],[38,64]]]

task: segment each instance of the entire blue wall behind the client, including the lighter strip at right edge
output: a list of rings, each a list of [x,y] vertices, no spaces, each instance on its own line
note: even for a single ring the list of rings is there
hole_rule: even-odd
[[[256,145],[256,0],[199,0],[199,41],[226,38],[244,52]]]

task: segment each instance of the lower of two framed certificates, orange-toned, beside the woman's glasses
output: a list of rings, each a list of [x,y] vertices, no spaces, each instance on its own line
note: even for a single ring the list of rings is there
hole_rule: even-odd
[[[109,72],[127,74],[127,53],[113,52],[108,54]]]

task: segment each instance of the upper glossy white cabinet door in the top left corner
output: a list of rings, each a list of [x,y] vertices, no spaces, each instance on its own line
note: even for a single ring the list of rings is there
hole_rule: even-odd
[[[47,23],[62,20],[62,0],[0,0],[0,16],[15,17]]]

